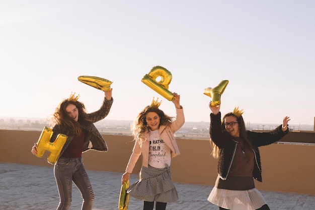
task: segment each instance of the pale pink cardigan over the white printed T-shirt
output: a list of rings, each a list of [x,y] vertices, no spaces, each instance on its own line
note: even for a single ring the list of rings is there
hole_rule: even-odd
[[[180,129],[185,123],[184,111],[181,106],[180,109],[176,108],[176,119],[172,122],[170,126],[161,125],[159,128],[160,136],[163,141],[169,146],[171,149],[171,157],[174,158],[180,154],[174,133]],[[140,145],[137,141],[134,144],[132,154],[130,156],[126,172],[132,173],[132,170],[139,158],[142,154],[142,166],[148,167],[149,160],[149,133],[148,131],[144,133],[145,141]]]

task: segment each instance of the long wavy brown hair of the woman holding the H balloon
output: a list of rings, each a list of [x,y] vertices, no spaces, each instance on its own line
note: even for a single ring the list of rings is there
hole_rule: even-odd
[[[78,110],[78,120],[74,121],[66,112],[69,104],[73,104]],[[90,122],[86,113],[86,108],[80,101],[63,100],[55,110],[52,121],[59,125],[60,132],[66,135],[80,135],[82,133],[81,124]]]

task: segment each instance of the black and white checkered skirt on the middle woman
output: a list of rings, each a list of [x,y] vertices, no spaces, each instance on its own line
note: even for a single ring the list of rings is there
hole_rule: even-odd
[[[140,200],[157,202],[175,202],[178,193],[172,182],[170,167],[154,168],[142,166],[140,179],[128,187],[127,193]]]

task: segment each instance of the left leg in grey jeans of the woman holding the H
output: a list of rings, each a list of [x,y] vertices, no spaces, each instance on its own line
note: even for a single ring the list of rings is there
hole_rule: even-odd
[[[57,210],[67,210],[71,205],[73,165],[67,160],[60,159],[54,166],[54,176],[59,193]]]

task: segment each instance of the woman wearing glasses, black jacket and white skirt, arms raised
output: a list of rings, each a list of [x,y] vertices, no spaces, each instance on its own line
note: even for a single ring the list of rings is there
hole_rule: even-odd
[[[210,102],[211,103],[211,102]],[[235,108],[221,120],[220,105],[209,107],[212,156],[218,159],[218,177],[208,201],[219,209],[270,209],[255,188],[254,179],[262,182],[258,147],[270,145],[288,133],[289,117],[269,132],[246,130],[243,110]]]

